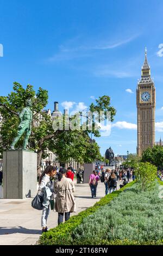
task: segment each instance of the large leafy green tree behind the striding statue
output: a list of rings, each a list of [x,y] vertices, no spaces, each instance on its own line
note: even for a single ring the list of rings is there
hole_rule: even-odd
[[[19,123],[18,113],[24,107],[24,101],[32,99],[33,128],[29,139],[29,149],[37,152],[37,170],[41,167],[41,159],[47,157],[47,150],[57,154],[60,161],[68,161],[73,157],[78,162],[92,162],[101,160],[99,146],[95,140],[90,139],[90,132],[95,137],[100,136],[96,129],[81,130],[54,130],[52,118],[43,109],[48,103],[48,92],[39,88],[36,93],[33,86],[27,85],[24,89],[20,83],[15,82],[13,92],[8,96],[0,96],[0,112],[3,116],[3,124],[0,132],[0,153],[9,149],[13,138],[17,133]],[[110,111],[111,121],[114,120],[115,109],[110,106],[110,97],[102,96],[96,100],[96,105],[91,104],[90,111]],[[74,117],[71,117],[73,119]],[[95,124],[94,126],[95,127]],[[21,147],[23,136],[16,147]]]

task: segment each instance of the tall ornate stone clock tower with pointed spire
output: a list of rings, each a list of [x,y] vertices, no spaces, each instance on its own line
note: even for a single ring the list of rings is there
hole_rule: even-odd
[[[141,79],[136,89],[137,105],[137,155],[141,156],[143,150],[152,148],[155,142],[155,86],[151,78],[151,69],[145,62],[141,69]]]

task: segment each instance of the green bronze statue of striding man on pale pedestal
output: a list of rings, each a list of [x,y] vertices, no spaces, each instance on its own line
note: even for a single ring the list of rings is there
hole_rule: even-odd
[[[23,149],[26,149],[28,144],[28,139],[32,130],[32,101],[30,99],[26,100],[26,107],[24,107],[19,115],[20,124],[18,125],[17,136],[12,141],[10,149],[15,150],[15,144],[19,141],[24,133],[26,133],[23,141]]]

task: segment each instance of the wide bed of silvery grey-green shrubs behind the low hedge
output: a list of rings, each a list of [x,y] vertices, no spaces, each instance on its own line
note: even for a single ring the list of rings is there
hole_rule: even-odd
[[[136,184],[86,217],[72,233],[72,245],[163,243],[163,201],[159,186],[140,192]]]

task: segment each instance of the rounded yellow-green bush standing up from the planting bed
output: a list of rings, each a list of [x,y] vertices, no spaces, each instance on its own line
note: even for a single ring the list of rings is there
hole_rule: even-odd
[[[155,184],[157,168],[151,163],[139,162],[135,166],[136,182],[141,191],[151,190]]]

